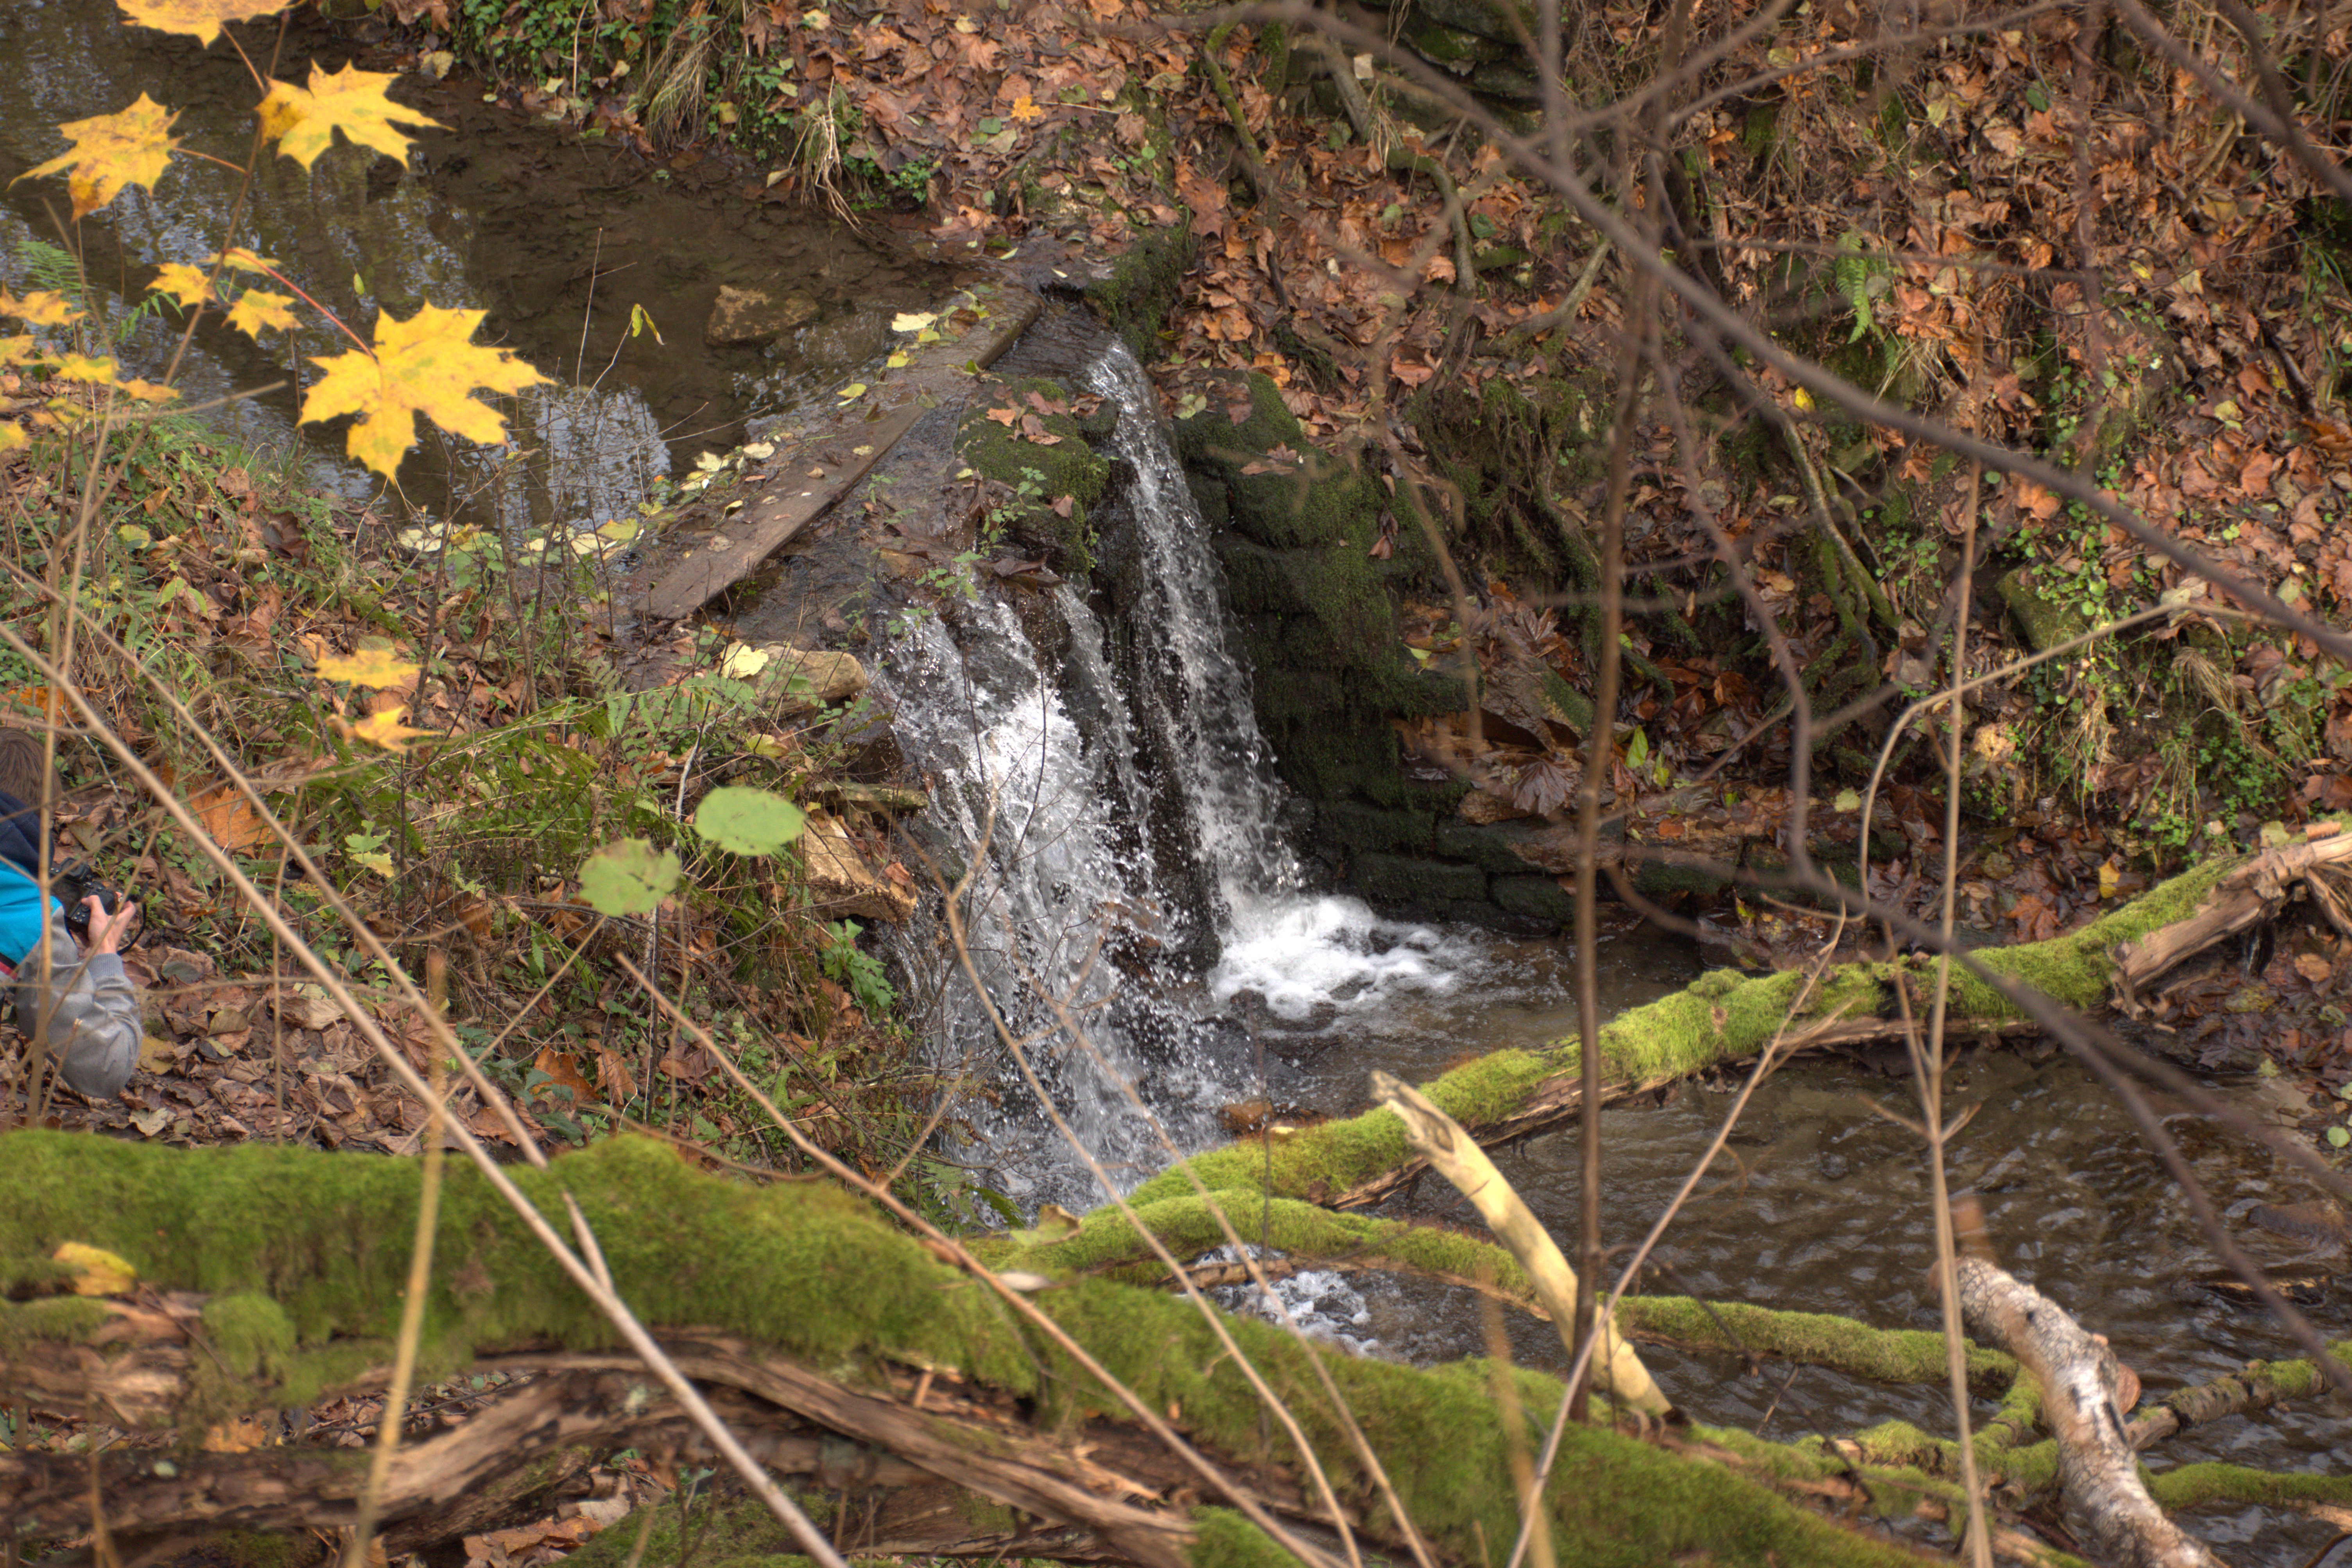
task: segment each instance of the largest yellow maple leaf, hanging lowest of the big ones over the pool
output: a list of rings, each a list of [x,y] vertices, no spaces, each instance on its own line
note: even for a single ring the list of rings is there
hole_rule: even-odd
[[[520,393],[546,376],[503,348],[468,343],[482,315],[423,306],[402,322],[386,313],[376,322],[374,355],[355,348],[310,360],[327,374],[303,395],[301,423],[358,414],[346,449],[383,477],[393,477],[400,454],[416,440],[416,414],[468,442],[503,442],[506,418],[473,390]]]

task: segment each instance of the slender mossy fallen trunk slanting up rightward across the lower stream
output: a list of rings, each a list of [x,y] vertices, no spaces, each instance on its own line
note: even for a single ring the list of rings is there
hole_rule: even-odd
[[[2303,858],[2298,858],[2298,853]],[[2147,947],[2159,931],[2192,922],[2223,889],[2291,884],[2310,875],[2307,851],[2220,858],[2164,882],[2114,912],[2046,943],[1985,947],[1973,957],[1992,973],[2030,985],[2070,1009],[2100,1006],[2117,978],[2117,952]],[[2274,907],[2274,905],[2272,905]],[[2185,957],[2178,954],[2176,957]],[[2145,985],[2145,978],[2140,980]],[[1649,1093],[1675,1079],[1755,1058],[1776,1037],[1797,1048],[1884,1039],[1900,1030],[1896,987],[1926,997],[1933,961],[1907,957],[1842,964],[1806,990],[1804,971],[1743,976],[1719,969],[1672,997],[1628,1009],[1602,1027],[1602,1093],[1611,1100]],[[1952,966],[1950,1032],[2013,1034],[2034,1020],[1994,985]],[[1479,1143],[1503,1143],[1576,1114],[1576,1041],[1552,1051],[1496,1051],[1423,1084],[1449,1117]],[[1272,1150],[1265,1140],[1272,1138]],[[1265,1187],[1277,1197],[1355,1208],[1388,1197],[1421,1171],[1404,1124],[1371,1110],[1305,1128],[1251,1135],[1164,1171],[1136,1190],[1138,1204],[1185,1197],[1192,1178],[1209,1190]]]

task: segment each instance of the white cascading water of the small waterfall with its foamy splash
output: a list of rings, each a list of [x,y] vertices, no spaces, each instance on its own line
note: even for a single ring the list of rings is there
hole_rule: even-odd
[[[1124,1190],[1167,1164],[1162,1133],[1197,1147],[1221,1105],[1258,1093],[1265,1058],[1221,1011],[1242,992],[1275,1020],[1329,1018],[1456,985],[1468,945],[1308,891],[1150,383],[1117,339],[1065,378],[1120,409],[1103,614],[1061,585],[1042,651],[1040,616],[981,592],[901,635],[877,684],[934,780],[936,870],[964,884],[978,992],[943,929],[901,957],[934,978],[917,990],[938,997],[941,1056],[978,1081],[955,1107],[983,1145],[967,1157],[1023,1204],[1091,1208],[1101,1182],[1037,1112],[997,1018]]]

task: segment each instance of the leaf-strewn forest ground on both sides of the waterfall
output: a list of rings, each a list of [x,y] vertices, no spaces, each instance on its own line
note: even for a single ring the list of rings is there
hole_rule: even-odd
[[[433,26],[430,5],[395,9]],[[1202,68],[1207,40],[1167,31],[1143,0],[1035,7],[985,26],[931,0],[880,0],[767,26],[762,52],[746,59],[790,61],[779,87],[795,94],[790,113],[811,101],[847,106],[847,115],[828,108],[844,132],[842,162],[760,160],[720,141],[684,153],[656,146],[616,78],[560,89],[515,80],[506,94],[543,118],[640,139],[649,158],[724,160],[746,200],[835,190],[870,202],[866,221],[943,242],[1002,249],[1049,237],[1070,256],[1110,256],[1138,233],[1183,226],[1200,259],[1157,367],[1171,411],[1216,395],[1223,374],[1254,369],[1282,386],[1312,442],[1350,451],[1402,442],[1425,461],[1411,404],[1439,376],[1541,395],[1571,371],[1613,362],[1625,275],[1604,263],[1576,296],[1592,237],[1564,216],[1557,193],[1491,146],[1421,141],[1463,193],[1477,244],[1465,277],[1439,188],[1390,169],[1345,120],[1275,80],[1287,52],[1258,31],[1225,33],[1218,61],[1272,174],[1263,195],[1244,179],[1232,120]],[[1705,85],[1832,54],[1856,40],[1851,26],[1846,7],[1809,7],[1769,40],[1769,61],[1759,40],[1717,61]],[[1915,407],[1962,428],[2089,463],[2171,538],[2343,625],[2352,609],[2352,529],[2343,527],[2352,425],[2338,374],[2352,353],[2352,299],[2340,230],[2312,221],[2321,197],[2307,174],[2241,136],[2187,75],[2145,68],[2131,92],[2107,85],[2084,108],[2074,26],[2046,14],[2030,31],[1952,40],[1900,85],[1898,139],[1858,115],[1851,94],[1804,73],[1788,78],[1764,129],[1736,101],[1693,115],[1686,141],[1726,235],[1724,284],[1738,306],[1788,299],[1778,268],[1792,249],[1867,263],[1860,294],[1797,289],[1790,303],[1813,322],[1792,331],[1811,331],[1809,346],[1823,353],[1865,350],[1856,364],[1877,367]],[[1653,68],[1644,28],[1628,7],[1604,9],[1595,24],[1611,49],[1604,80],[1635,82]],[[445,45],[419,33],[414,54]],[[2343,40],[2326,47],[2340,52]],[[920,202],[889,212],[894,193]],[[2082,275],[2098,280],[2096,308]],[[2126,397],[2124,383],[2147,397]],[[1818,416],[1790,386],[1766,378],[1766,388],[1804,433],[1811,461],[1853,475],[1856,510],[1879,524],[1865,548],[1900,623],[1889,637],[1889,679],[1912,689],[1943,679],[1929,630],[1950,621],[1957,541],[1971,527],[1997,569],[2032,567],[2042,597],[2086,625],[2192,588],[2176,564],[2016,477],[1985,475],[1973,498],[1910,508],[1896,527],[1879,510],[1884,498],[1924,487],[1933,456],[1886,428]],[[0,397],[33,390],[0,383]],[[2124,437],[2089,447],[2124,402],[2133,404]],[[1677,595],[1705,585],[1712,545],[1693,524],[1705,512],[1738,541],[1780,630],[1799,649],[1835,644],[1837,607],[1795,559],[1802,529],[1785,470],[1743,465],[1731,440],[1691,451],[1663,409],[1642,416],[1632,451],[1628,536],[1646,581]],[[619,668],[628,649],[581,632],[576,616],[550,618],[529,597],[452,585],[400,548],[393,520],[306,496],[254,454],[155,425],[122,451],[113,487],[108,527],[188,541],[127,590],[143,595],[132,609],[155,628],[165,672],[202,693],[200,717],[240,766],[273,795],[299,797],[322,832],[360,856],[339,893],[397,952],[437,945],[449,954],[456,1016],[529,1025],[536,1044],[522,1053],[506,1048],[496,1025],[470,1034],[468,1025],[461,1037],[496,1065],[548,1143],[642,1126],[699,1159],[769,1166],[774,1150],[755,1117],[713,1084],[701,1048],[654,1027],[609,966],[574,961],[616,943],[637,954],[644,933],[616,936],[586,912],[569,867],[539,867],[543,856],[527,842],[581,799],[614,802],[614,820],[659,811],[715,710],[729,712],[748,752],[764,745],[802,778],[823,778],[837,759],[788,724],[731,710],[717,686],[668,710],[614,705],[635,689]],[[1595,494],[1566,501],[1583,515],[1599,510]],[[0,473],[0,505],[14,559],[38,576],[71,484],[16,461]],[[1409,607],[1409,646],[1439,656],[1468,642],[1486,661],[1534,649],[1588,684],[1543,585],[1470,567],[1472,611],[1437,599]],[[2027,651],[1992,581],[1987,569],[1973,583],[1971,670]],[[1987,762],[1962,846],[1964,924],[1992,940],[2053,936],[2185,858],[2251,849],[2312,811],[2352,806],[2343,670],[2307,637],[2206,609],[2230,607],[2192,588],[2183,614],[2138,642],[2103,642],[1994,686],[1976,715],[1992,743],[1978,752]],[[31,602],[9,604],[12,618],[26,614]],[[680,637],[687,644],[668,649],[673,663],[715,658],[696,632]],[[365,691],[310,675],[296,686],[280,679],[313,665],[320,649],[369,646],[416,656],[421,682]],[[1632,691],[1621,712],[1613,783],[1635,830],[1672,842],[1686,820],[1755,823],[1785,811],[1771,780],[1785,776],[1788,741],[1764,724],[1776,691],[1755,649],[1708,654],[1649,630],[1637,630],[1635,646],[1670,686]],[[85,684],[118,733],[186,757],[172,780],[186,785],[212,837],[238,853],[261,851],[261,823],[209,762],[172,741],[176,724],[139,670],[106,654],[96,665],[108,675]],[[31,679],[12,682],[7,696],[28,717],[47,701]],[[2183,705],[2194,722],[2166,717]],[[586,733],[590,710],[609,715],[600,736]],[[395,731],[407,722],[459,743],[409,752],[395,733],[388,750],[353,745],[348,731],[386,712]],[[567,726],[579,729],[550,738]],[[1726,752],[1738,752],[1736,766],[1693,806],[1686,778]],[[1548,757],[1522,745],[1501,762],[1531,776]],[[1863,783],[1835,778],[1837,804]],[[506,802],[506,813],[487,811],[492,802]],[[466,813],[461,835],[428,832],[454,809]],[[1905,853],[1877,872],[1872,891],[1929,912],[1943,886],[1940,783],[1915,762],[1889,780],[1884,809]],[[593,816],[581,832],[602,820]],[[153,889],[148,936],[129,959],[153,997],[148,1072],[120,1105],[26,1107],[35,1119],[181,1143],[414,1143],[421,1107],[383,1086],[350,1020],[292,971],[202,856],[176,844],[122,778],[78,778],[61,827],[82,853]],[[536,896],[485,893],[482,865],[517,853],[534,860]],[[383,867],[369,870],[372,858]],[[329,957],[362,987],[376,983],[381,1020],[423,1060],[421,1025],[388,1001],[383,976],[369,973],[348,938],[329,936],[315,891],[280,886],[289,903],[308,903]],[[823,910],[774,914],[771,893],[771,879],[748,879],[666,907],[663,973],[696,1016],[739,1030],[746,1065],[769,1074],[807,1126],[870,1171],[891,1171],[917,1138],[915,1107],[929,1084],[887,1023],[884,983],[870,959],[858,961],[854,931]],[[1726,907],[1717,919],[1780,954],[1820,933],[1813,917],[1769,905]],[[731,961],[753,947],[793,983],[734,985]],[[2352,1093],[2345,987],[2352,943],[2298,929],[2251,952],[2237,978],[2176,997],[2171,1023],[2209,1067],[2267,1060],[2314,1098],[2343,1098]],[[0,1063],[12,1077],[14,1067]],[[503,1135],[477,1119],[477,1105],[461,1114]],[[950,1213],[962,1206],[962,1218],[978,1218],[955,1197],[950,1171],[931,1168],[915,1185]],[[374,1415],[355,1406],[306,1420],[358,1434]],[[12,1434],[26,1436],[40,1434]],[[221,1441],[275,1436],[228,1432]],[[574,1507],[468,1549],[482,1563],[529,1568],[616,1512]]]

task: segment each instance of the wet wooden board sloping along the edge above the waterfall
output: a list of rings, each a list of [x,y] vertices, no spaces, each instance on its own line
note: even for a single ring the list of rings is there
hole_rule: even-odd
[[[971,369],[993,364],[1037,320],[1035,294],[981,289],[988,315],[957,336],[924,343],[908,364],[889,371],[858,402],[828,414],[811,430],[779,437],[776,477],[757,501],[729,517],[670,567],[644,595],[644,614],[691,616],[760,569],[835,501],[847,496],[889,456],[915,421],[962,393]],[[880,416],[875,416],[880,411]]]

